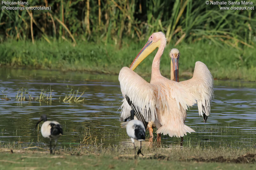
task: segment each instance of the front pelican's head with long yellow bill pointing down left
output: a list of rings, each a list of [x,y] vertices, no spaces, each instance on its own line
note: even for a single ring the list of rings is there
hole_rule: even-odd
[[[130,69],[134,70],[150,53],[152,53],[156,48],[159,48],[161,43],[164,43],[164,45],[166,44],[164,33],[157,32],[150,35],[146,45],[140,50],[139,54],[133,60]]]

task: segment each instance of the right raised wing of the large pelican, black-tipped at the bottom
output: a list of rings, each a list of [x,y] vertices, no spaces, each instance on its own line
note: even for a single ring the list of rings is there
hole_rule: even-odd
[[[196,99],[199,115],[203,116],[204,122],[210,115],[210,102],[213,98],[213,78],[207,66],[198,61],[195,65],[193,77],[180,82]]]

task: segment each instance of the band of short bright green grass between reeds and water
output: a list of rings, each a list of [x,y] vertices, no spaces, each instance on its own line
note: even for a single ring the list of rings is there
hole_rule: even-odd
[[[122,48],[115,44],[78,42],[73,46],[69,41],[7,41],[0,44],[0,65],[13,68],[81,70],[118,74],[124,66],[130,66],[134,57],[144,45],[144,41],[134,43],[125,41]],[[15,47],[15,48],[13,48]],[[173,48],[167,45],[161,59],[161,72],[170,76],[170,59],[168,53]],[[191,77],[196,61],[204,62],[217,79],[256,79],[256,48],[244,46],[243,49],[227,45],[197,41],[180,43],[180,77]],[[156,50],[136,69],[141,75],[151,75],[151,64]]]

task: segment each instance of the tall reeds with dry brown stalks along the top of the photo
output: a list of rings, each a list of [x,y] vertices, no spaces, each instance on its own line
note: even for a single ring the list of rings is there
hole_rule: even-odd
[[[70,39],[76,45],[77,39],[82,39],[114,42],[121,47],[124,37],[140,41],[153,32],[162,31],[174,45],[182,41],[209,40],[242,49],[241,45],[252,48],[256,42],[253,10],[221,11],[220,6],[202,1],[44,0],[29,1],[29,6],[51,6],[51,11],[2,11],[0,41],[14,39],[34,43],[34,39],[43,39],[52,43]]]

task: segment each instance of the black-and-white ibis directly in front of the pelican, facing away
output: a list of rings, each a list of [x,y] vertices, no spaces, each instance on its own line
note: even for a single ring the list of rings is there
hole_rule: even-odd
[[[127,123],[126,132],[127,135],[131,137],[132,143],[134,145],[134,157],[136,158],[136,147],[134,144],[134,139],[140,141],[140,149],[137,152],[137,156],[139,156],[139,154],[143,155],[141,153],[141,141],[145,140],[146,130],[142,122],[140,122],[139,120],[133,120],[133,116],[134,111],[131,110],[131,120]]]

